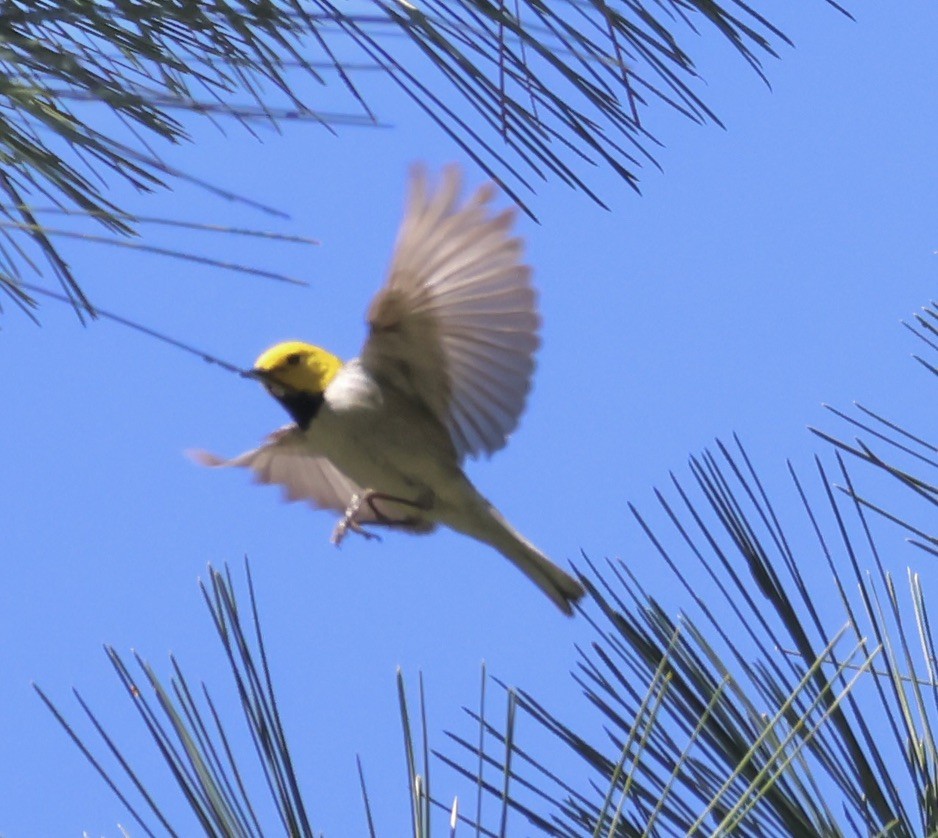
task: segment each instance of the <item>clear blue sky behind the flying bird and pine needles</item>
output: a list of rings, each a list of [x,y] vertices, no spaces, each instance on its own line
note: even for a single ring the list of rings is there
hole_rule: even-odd
[[[806,426],[838,427],[822,402],[857,400],[933,427],[928,381],[899,321],[935,296],[938,10],[852,5],[855,23],[821,2],[779,13],[797,48],[768,65],[771,92],[705,30],[695,52],[703,93],[727,130],[653,107],[663,172],[644,173],[641,196],[596,172],[609,211],[549,183],[532,200],[541,224],[521,219],[544,345],[519,431],[469,472],[557,561],[581,550],[622,558],[666,604],[685,607],[626,504],[650,506],[670,470],[687,474],[689,454],[738,432],[770,487],[787,491],[786,459],[808,467],[826,450]],[[75,245],[92,298],[235,363],[287,338],[356,354],[407,167],[461,159],[411,106],[371,85],[391,129],[333,137],[294,126],[258,143],[194,126],[196,144],[171,155],[288,212],[277,229],[318,239],[225,238],[212,250],[308,288]],[[125,197],[152,215],[274,224],[193,189]],[[424,673],[439,746],[444,730],[473,730],[460,707],[476,702],[483,659],[599,735],[567,674],[589,627],[563,619],[500,556],[451,533],[335,550],[328,514],[183,457],[192,447],[234,454],[279,426],[258,387],[112,324],[81,327],[64,307],[40,314],[37,329],[8,309],[0,334],[0,834],[116,835],[129,824],[31,681],[65,707],[76,687],[173,799],[101,645],[135,649],[167,676],[172,652],[215,696],[230,694],[196,579],[226,561],[237,577],[244,555],[317,830],[364,829],[356,754],[379,828],[406,829],[398,666],[413,688]],[[894,569],[913,558],[897,539]],[[444,798],[468,793],[442,771],[435,787]],[[185,834],[184,808],[169,809]]]

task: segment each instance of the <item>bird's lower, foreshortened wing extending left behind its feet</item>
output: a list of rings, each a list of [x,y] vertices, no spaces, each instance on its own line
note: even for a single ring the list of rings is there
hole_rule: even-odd
[[[249,468],[256,482],[279,483],[287,500],[305,500],[316,509],[345,512],[352,496],[361,494],[361,489],[329,460],[309,453],[296,425],[274,431],[259,448],[231,460],[208,451],[192,451],[189,455],[204,466]],[[364,507],[356,520],[368,523],[374,517]]]

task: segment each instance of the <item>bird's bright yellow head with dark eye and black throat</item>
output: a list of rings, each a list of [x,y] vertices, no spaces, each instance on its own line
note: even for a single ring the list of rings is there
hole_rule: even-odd
[[[322,405],[326,387],[341,368],[342,361],[331,352],[291,340],[264,352],[254,362],[251,376],[305,428]]]

